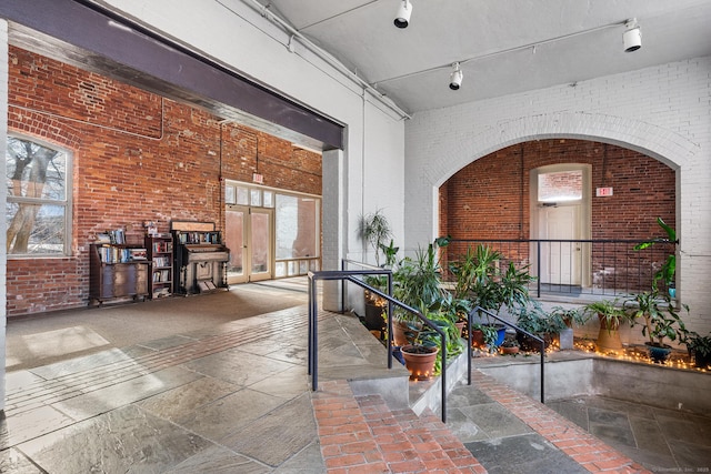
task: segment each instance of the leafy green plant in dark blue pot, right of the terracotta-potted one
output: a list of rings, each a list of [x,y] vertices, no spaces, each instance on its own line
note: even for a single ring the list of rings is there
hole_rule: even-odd
[[[642,335],[649,339],[644,344],[654,363],[663,364],[669,359],[672,347],[664,340],[685,342],[689,332],[684,322],[671,299],[661,297],[655,288],[633,295],[625,305],[631,309],[632,324],[640,319],[643,321]]]

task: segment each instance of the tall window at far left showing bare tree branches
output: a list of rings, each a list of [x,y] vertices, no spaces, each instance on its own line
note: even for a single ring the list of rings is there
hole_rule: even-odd
[[[8,256],[68,255],[70,154],[8,137]]]

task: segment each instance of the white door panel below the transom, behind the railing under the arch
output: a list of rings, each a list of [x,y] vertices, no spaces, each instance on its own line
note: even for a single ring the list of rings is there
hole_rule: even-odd
[[[580,204],[545,206],[539,210],[540,239],[579,240]],[[580,285],[581,245],[575,242],[544,242],[541,245],[541,283]]]

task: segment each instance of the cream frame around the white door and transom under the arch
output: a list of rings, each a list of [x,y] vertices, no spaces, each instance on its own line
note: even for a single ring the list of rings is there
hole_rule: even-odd
[[[582,199],[568,204],[580,205],[580,213],[578,216],[577,233],[580,235],[580,240],[591,239],[592,228],[592,165],[587,163],[560,163],[539,167],[532,169],[529,173],[530,177],[530,239],[542,239],[541,234],[543,230],[540,225],[541,209],[543,209],[542,202],[539,201],[538,194],[538,181],[540,174],[555,173],[563,171],[582,171]],[[591,251],[590,243],[582,243],[580,246],[581,264],[579,265],[580,275],[577,279],[580,281],[582,288],[590,288],[592,285],[591,276]],[[538,245],[535,242],[531,243],[531,268],[535,274],[541,276],[541,269],[538,268]]]

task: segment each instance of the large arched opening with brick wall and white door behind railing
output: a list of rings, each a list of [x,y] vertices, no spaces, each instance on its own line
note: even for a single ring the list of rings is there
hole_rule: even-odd
[[[574,195],[564,180],[579,186]],[[653,254],[633,245],[664,238],[657,218],[674,226],[675,182],[675,171],[661,161],[617,144],[545,139],[503,148],[440,188],[439,234],[452,238],[444,260],[483,243],[519,266],[530,265],[550,291],[649,289],[673,245]],[[541,194],[542,186],[549,188]],[[559,242],[541,251],[541,241]]]

